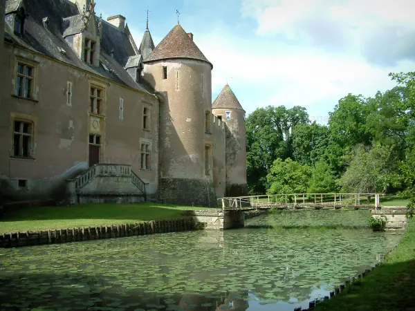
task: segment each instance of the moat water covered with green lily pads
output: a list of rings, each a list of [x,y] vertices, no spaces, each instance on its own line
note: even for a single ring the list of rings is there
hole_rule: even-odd
[[[288,212],[289,213],[289,212]],[[382,260],[368,211],[269,214],[246,228],[0,249],[1,310],[289,310]],[[278,229],[279,225],[355,229]],[[40,310],[40,309],[39,309]]]

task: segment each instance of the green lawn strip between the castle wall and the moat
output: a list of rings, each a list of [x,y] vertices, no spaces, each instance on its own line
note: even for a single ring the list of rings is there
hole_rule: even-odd
[[[121,225],[140,221],[183,218],[184,209],[207,209],[159,203],[86,204],[70,207],[9,209],[0,220],[0,234],[73,227]]]

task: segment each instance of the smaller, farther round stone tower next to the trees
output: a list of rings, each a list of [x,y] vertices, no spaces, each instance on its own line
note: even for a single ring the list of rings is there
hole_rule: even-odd
[[[245,111],[228,84],[214,100],[212,113],[227,127],[225,196],[246,196]]]

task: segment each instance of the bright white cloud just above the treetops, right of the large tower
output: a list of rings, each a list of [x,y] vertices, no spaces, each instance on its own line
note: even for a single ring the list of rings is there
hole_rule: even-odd
[[[214,93],[232,77],[230,85],[248,113],[269,104],[299,105],[315,119],[326,120],[341,97],[348,93],[374,96],[396,85],[388,73],[415,67],[409,62],[380,67],[360,55],[241,39],[223,28],[195,38],[214,65]]]

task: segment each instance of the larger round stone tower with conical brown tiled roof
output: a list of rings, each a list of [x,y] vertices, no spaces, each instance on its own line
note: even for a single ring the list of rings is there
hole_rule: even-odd
[[[216,206],[212,182],[212,64],[193,35],[174,28],[144,60],[160,97],[160,200]]]

